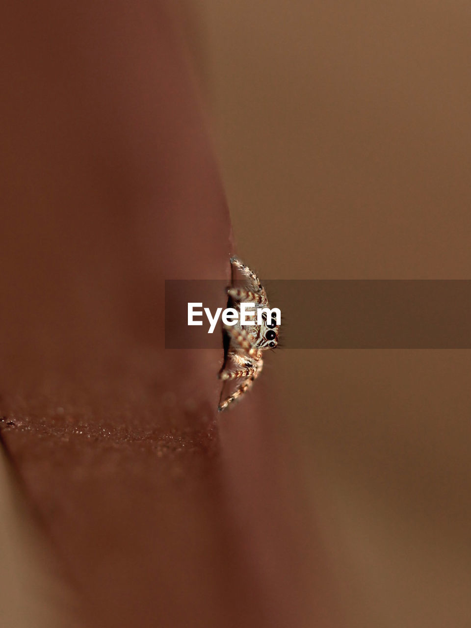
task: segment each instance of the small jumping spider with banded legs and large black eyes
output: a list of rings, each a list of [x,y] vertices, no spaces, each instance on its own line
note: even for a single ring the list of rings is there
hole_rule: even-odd
[[[253,382],[259,376],[263,367],[263,352],[274,349],[278,344],[279,326],[275,318],[267,319],[266,312],[262,313],[262,324],[241,327],[240,306],[241,302],[254,303],[255,310],[269,308],[265,288],[260,283],[257,275],[248,266],[244,266],[236,257],[230,258],[232,270],[238,271],[246,280],[246,286],[236,288],[234,285],[228,288],[227,294],[232,301],[232,306],[239,313],[236,325],[224,325],[224,330],[229,338],[229,349],[225,364],[219,377],[222,380],[238,379],[234,392],[224,401],[220,400],[218,410],[225,410],[236,399],[249,390]],[[255,317],[256,318],[256,317]],[[221,393],[222,395],[222,393]]]

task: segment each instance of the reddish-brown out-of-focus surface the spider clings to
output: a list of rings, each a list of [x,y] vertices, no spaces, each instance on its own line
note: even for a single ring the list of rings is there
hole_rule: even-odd
[[[1,434],[79,619],[310,625],[328,604],[263,386],[219,438],[222,351],[163,350],[163,279],[224,278],[231,252],[171,23],[158,3],[10,5]]]

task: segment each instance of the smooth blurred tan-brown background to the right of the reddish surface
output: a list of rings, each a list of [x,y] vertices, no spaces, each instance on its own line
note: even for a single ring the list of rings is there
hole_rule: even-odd
[[[469,278],[466,3],[185,0],[177,13],[237,253],[261,277]],[[298,480],[346,628],[470,625],[470,367],[465,350],[267,360],[291,452],[281,474]],[[5,565],[10,625],[29,627],[29,580]]]

